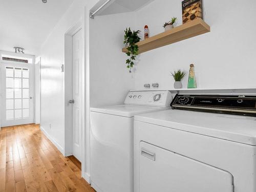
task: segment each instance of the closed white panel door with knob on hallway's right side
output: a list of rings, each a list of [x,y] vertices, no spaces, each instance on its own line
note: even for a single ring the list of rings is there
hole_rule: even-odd
[[[73,155],[82,160],[82,30],[73,35]]]

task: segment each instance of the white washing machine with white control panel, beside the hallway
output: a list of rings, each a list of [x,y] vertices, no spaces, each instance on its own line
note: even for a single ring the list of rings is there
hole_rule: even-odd
[[[91,108],[91,186],[133,192],[134,115],[170,109],[169,91],[129,92],[123,105]]]

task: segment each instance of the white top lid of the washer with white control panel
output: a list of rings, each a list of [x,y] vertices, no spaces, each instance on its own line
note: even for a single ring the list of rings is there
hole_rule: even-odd
[[[114,106],[104,106],[101,108],[91,108],[91,112],[118,115],[123,117],[134,117],[135,115],[142,114],[142,113],[151,113],[151,112],[157,112],[157,111],[162,111],[167,109],[170,109],[170,108],[123,104],[123,105],[114,105]]]

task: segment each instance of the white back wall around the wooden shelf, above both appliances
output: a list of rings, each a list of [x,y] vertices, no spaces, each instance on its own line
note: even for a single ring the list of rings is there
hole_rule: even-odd
[[[199,88],[255,88],[256,1],[204,0],[205,22],[211,32],[140,55],[134,72],[134,89],[159,82],[160,89],[173,89],[169,71],[195,64]],[[170,17],[181,25],[181,1],[155,0],[136,12],[137,29],[150,28],[151,36],[163,32]],[[187,77],[183,87],[187,86]]]

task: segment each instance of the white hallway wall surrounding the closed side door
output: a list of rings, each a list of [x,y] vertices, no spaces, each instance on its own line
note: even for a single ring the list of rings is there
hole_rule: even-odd
[[[61,73],[61,64],[65,61],[65,33],[75,25],[80,18],[83,19],[84,40],[86,42],[84,51],[86,52],[86,78],[89,83],[89,10],[96,4],[97,0],[74,0],[68,11],[61,17],[58,24],[49,34],[48,38],[41,47],[41,129],[45,132],[48,138],[58,147],[61,153],[64,154],[65,148],[65,89],[64,79],[65,73]],[[90,95],[87,84],[84,89],[87,89],[86,114],[90,113]],[[86,116],[86,125],[83,125],[83,133],[86,132],[87,137],[90,133],[90,116]],[[51,129],[50,129],[51,123]],[[84,127],[87,127],[84,130]],[[84,134],[85,135],[85,134]],[[90,143],[90,138],[83,140]],[[89,151],[89,144],[83,144],[85,152]],[[84,159],[86,158],[86,159]],[[90,156],[83,157],[82,176],[87,177],[90,171],[89,164]]]

